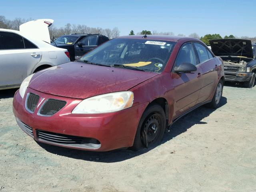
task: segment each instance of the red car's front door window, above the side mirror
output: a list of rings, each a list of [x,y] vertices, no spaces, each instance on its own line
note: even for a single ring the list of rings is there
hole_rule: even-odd
[[[175,61],[175,66],[180,66],[182,63],[191,63],[194,66],[197,65],[196,55],[191,43],[187,43],[182,46]]]

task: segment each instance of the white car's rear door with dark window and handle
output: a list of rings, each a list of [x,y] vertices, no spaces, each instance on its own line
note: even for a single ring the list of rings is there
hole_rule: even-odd
[[[0,32],[0,86],[21,84],[41,56],[36,45],[19,34]]]

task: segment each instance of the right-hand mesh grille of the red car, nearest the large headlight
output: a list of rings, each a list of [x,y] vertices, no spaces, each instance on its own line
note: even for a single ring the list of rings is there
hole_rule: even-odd
[[[66,101],[48,99],[40,108],[39,114],[43,116],[52,116],[66,105]]]

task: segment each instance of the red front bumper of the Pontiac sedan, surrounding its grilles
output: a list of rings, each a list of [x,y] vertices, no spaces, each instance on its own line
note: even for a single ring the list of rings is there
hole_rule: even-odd
[[[65,100],[66,105],[52,116],[40,116],[38,110],[44,102],[38,102],[34,112],[28,112],[25,108],[26,95],[31,92],[47,100]],[[65,98],[38,92],[28,88],[22,99],[17,91],[13,100],[13,112],[20,128],[34,140],[56,146],[76,148],[81,150],[108,151],[133,145],[134,137],[147,103],[139,104],[131,108],[105,114],[72,114],[75,106],[81,99]],[[41,136],[40,136],[41,135]],[[46,136],[48,139],[45,140]],[[56,142],[78,140],[82,138],[81,144],[63,144]],[[90,143],[89,140],[94,140]],[[97,142],[95,143],[95,140]]]

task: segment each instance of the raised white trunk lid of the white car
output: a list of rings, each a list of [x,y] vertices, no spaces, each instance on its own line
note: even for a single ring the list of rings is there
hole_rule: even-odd
[[[52,19],[38,19],[26,22],[20,25],[20,32],[33,39],[42,40],[50,43],[49,29],[54,20]]]

